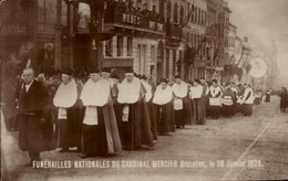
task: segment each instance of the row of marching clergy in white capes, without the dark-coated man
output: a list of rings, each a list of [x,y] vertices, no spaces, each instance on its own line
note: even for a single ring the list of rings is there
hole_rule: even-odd
[[[69,84],[65,84],[65,76]],[[83,148],[82,158],[117,153],[122,148],[152,148],[158,134],[167,135],[185,125],[204,125],[206,115],[213,118],[222,114],[232,117],[237,105],[244,115],[250,116],[253,111],[254,93],[248,85],[245,84],[244,93],[238,94],[235,86],[228,84],[222,87],[216,79],[208,86],[204,78],[188,84],[175,76],[174,83],[161,78],[160,84],[153,86],[145,76],[135,76],[131,70],[121,82],[111,78],[107,71],[100,73],[94,70],[81,89],[81,93],[76,89],[69,73],[63,73],[53,103],[58,107],[61,151],[68,151],[71,147],[69,140],[82,140],[78,142],[79,148]],[[71,130],[72,135],[82,130],[79,136],[82,139],[73,139],[68,129],[78,118],[73,115],[78,102],[84,106],[83,121],[80,115],[79,121],[74,123],[81,124]]]

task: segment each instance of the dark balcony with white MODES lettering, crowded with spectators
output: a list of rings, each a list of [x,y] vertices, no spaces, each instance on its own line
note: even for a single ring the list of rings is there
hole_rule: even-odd
[[[105,11],[105,25],[132,29],[142,32],[164,34],[164,20],[158,13],[130,8],[124,2],[110,2]]]

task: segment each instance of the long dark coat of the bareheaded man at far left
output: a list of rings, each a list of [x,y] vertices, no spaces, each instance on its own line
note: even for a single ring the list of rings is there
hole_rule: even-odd
[[[19,99],[19,147],[23,151],[41,152],[55,149],[49,93],[33,81],[29,91],[22,84],[17,88]],[[44,119],[44,121],[41,121]]]

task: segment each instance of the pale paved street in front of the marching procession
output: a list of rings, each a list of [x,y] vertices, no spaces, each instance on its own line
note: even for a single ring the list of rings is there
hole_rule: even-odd
[[[236,115],[233,119],[208,119],[205,126],[188,126],[160,137],[154,150],[84,159],[110,168],[28,168],[28,156],[17,147],[17,132],[7,132],[2,127],[2,163],[8,168],[3,173],[11,181],[288,179],[288,113],[279,113],[278,104],[279,99],[272,97],[271,103],[255,106],[251,117]],[[42,160],[82,161],[76,152],[58,150],[41,157]],[[113,161],[121,167],[111,168]],[[128,163],[150,168],[127,168]]]

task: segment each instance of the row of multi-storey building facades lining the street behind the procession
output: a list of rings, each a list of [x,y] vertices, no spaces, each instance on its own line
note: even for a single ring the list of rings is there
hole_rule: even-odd
[[[236,30],[229,24],[232,11],[224,0],[21,2],[18,8],[31,19],[18,30],[33,40],[35,49],[27,60],[41,71],[96,66],[133,68],[154,82],[175,75],[186,81],[222,81],[233,56]],[[10,40],[4,33],[11,31],[1,29],[6,41]],[[9,42],[4,44],[2,54],[11,49]]]

